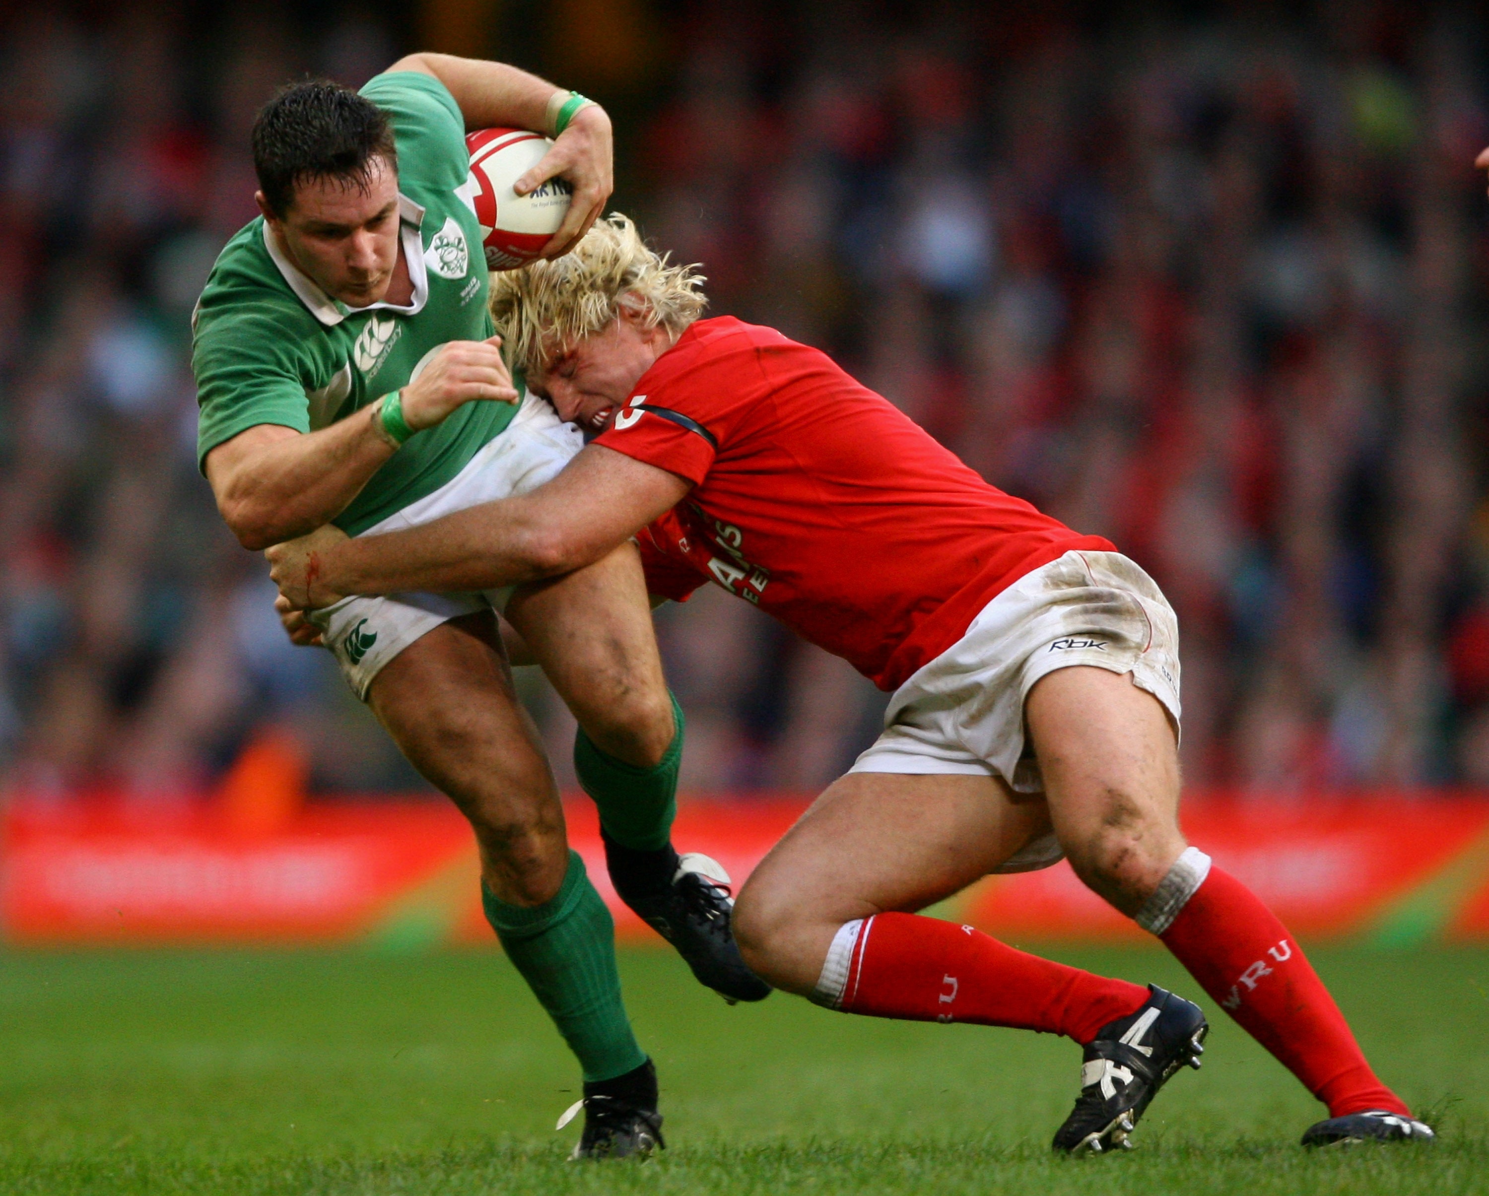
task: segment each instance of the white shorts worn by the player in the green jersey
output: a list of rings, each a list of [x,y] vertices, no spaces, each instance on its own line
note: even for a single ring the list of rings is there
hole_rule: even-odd
[[[543,399],[527,395],[506,429],[481,445],[465,469],[362,535],[399,532],[482,502],[526,494],[558,474],[581,448],[584,433],[560,420]],[[447,620],[493,608],[502,611],[511,593],[512,587],[503,587],[478,593],[345,597],[311,611],[310,621],[320,627],[322,640],[353,693],[366,702],[372,678],[409,643]]]

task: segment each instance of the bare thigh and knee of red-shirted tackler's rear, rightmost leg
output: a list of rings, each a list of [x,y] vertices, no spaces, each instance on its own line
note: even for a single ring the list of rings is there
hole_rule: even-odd
[[[1075,666],[1033,685],[1024,718],[1060,844],[1083,879],[1132,889],[1130,904],[1184,850],[1167,710],[1129,673]]]

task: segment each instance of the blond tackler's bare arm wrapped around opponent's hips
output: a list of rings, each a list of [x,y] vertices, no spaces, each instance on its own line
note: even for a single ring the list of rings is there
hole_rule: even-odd
[[[305,567],[275,557],[274,579],[290,602],[323,605],[329,594],[401,590],[490,590],[567,573],[624,544],[688,493],[691,483],[654,465],[591,444],[546,486],[445,515],[442,520],[359,536],[317,551]]]

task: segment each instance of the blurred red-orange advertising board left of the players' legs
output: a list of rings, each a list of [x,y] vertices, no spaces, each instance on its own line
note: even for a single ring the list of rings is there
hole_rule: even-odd
[[[265,833],[216,812],[13,807],[0,919],[19,941],[348,938],[469,839],[438,803],[310,806]]]

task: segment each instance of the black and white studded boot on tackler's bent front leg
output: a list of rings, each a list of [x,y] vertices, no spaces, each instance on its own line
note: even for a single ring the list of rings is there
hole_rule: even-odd
[[[1158,1089],[1181,1066],[1200,1065],[1209,1023],[1199,1005],[1148,985],[1142,1008],[1100,1028],[1085,1047],[1081,1095],[1054,1135],[1065,1154],[1130,1150],[1130,1135]]]

